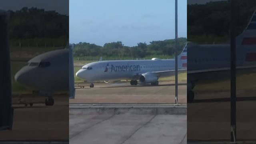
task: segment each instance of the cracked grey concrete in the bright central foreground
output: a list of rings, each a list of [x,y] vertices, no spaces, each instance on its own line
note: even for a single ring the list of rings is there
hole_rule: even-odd
[[[186,115],[71,115],[70,144],[186,144]]]

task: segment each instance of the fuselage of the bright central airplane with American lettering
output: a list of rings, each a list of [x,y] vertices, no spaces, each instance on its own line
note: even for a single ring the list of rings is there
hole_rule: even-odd
[[[86,64],[76,75],[90,82],[100,80],[132,80],[146,72],[174,70],[175,60],[110,60]],[[178,65],[182,68],[182,64]]]

